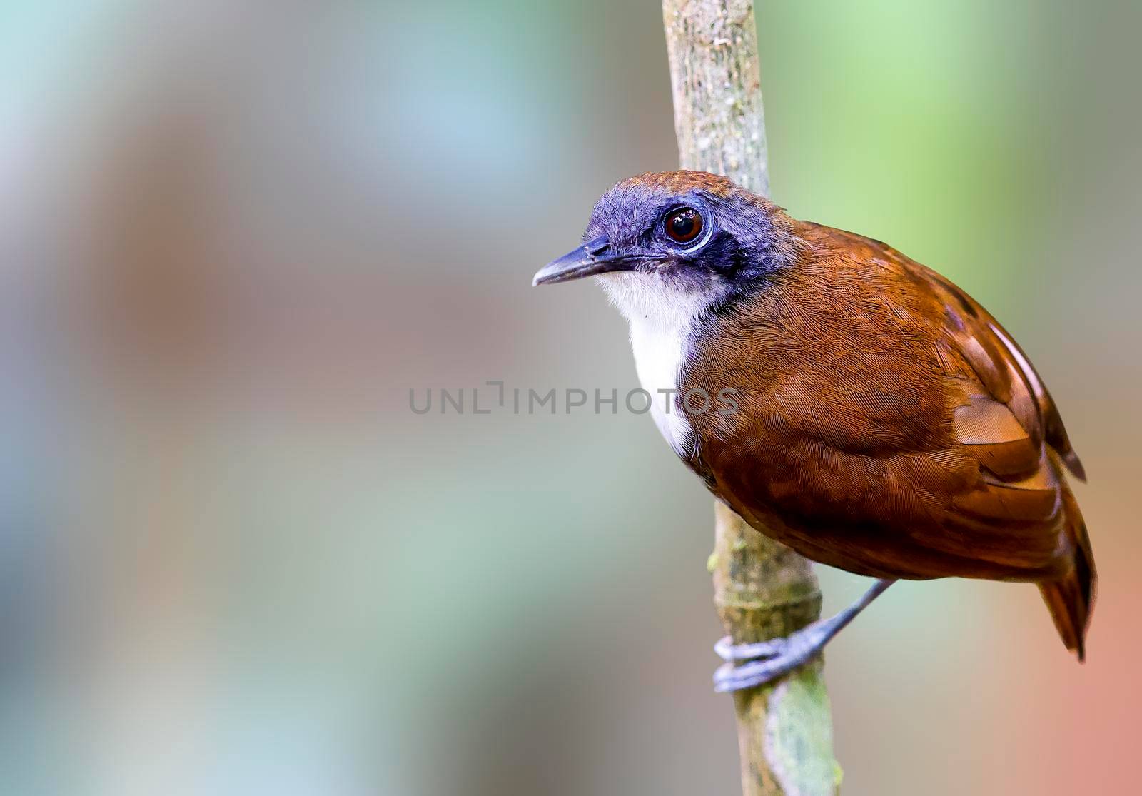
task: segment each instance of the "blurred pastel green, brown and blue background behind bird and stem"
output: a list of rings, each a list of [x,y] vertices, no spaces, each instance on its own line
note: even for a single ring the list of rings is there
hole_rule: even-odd
[[[621,405],[472,411],[636,386],[530,280],[676,166],[660,14],[0,2],[6,793],[739,793],[710,497]],[[1088,662],[1030,586],[893,588],[829,648],[845,793],[1132,793],[1142,10],[758,19],[774,200],[1003,319],[1091,474]]]

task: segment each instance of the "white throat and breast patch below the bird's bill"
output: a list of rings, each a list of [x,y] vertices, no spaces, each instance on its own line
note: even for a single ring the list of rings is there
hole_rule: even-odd
[[[654,424],[678,456],[690,458],[694,434],[678,409],[677,389],[693,353],[690,332],[710,297],[668,287],[649,274],[618,272],[600,276],[598,282],[630,323],[635,370],[642,388],[650,393]]]

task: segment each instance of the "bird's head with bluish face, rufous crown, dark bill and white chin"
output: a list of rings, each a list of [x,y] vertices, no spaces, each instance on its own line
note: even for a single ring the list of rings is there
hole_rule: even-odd
[[[630,320],[724,301],[793,263],[799,243],[780,208],[705,171],[622,180],[595,203],[582,240],[534,284],[598,276]]]

